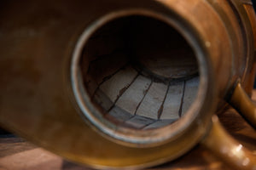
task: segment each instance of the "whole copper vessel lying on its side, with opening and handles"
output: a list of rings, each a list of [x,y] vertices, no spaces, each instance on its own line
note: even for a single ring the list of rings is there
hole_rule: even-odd
[[[230,166],[256,168],[214,116],[230,103],[256,126],[251,1],[0,8],[1,126],[95,168],[149,167],[199,143]]]

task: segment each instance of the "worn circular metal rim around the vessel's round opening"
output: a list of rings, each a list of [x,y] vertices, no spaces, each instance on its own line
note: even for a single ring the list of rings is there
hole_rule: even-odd
[[[172,28],[177,30],[183,36],[183,38],[189,42],[190,47],[193,48],[195,52],[195,56],[198,60],[198,65],[200,68],[199,91],[195,102],[190,106],[187,114],[177,122],[174,122],[166,127],[158,128],[157,130],[154,129],[143,132],[125,127],[120,127],[117,130],[113,123],[105,121],[102,117],[102,114],[100,114],[100,111],[97,111],[96,108],[90,105],[90,96],[84,89],[81,72],[79,71],[80,56],[82,54],[84,45],[90,36],[97,29],[107,24],[108,22],[131,15],[143,15],[146,17],[151,17],[153,19],[163,21],[169,26],[172,26]],[[170,17],[164,14],[156,13],[146,9],[129,9],[116,11],[102,16],[102,18],[96,20],[96,22],[84,30],[82,35],[79,37],[79,41],[77,42],[73,51],[73,58],[71,62],[71,82],[73,94],[77,104],[79,105],[79,109],[86,117],[86,119],[89,120],[88,122],[90,122],[90,125],[92,125],[93,128],[96,127],[94,129],[96,129],[97,132],[102,133],[103,136],[119,144],[135,147],[152,147],[160,144],[166,144],[172,139],[176,139],[177,136],[189,128],[192,122],[195,122],[196,117],[199,117],[201,107],[206,101],[207,90],[209,88],[209,78],[207,77],[209,68],[207,67],[206,57],[204,56],[201,47],[195,45],[194,42],[196,42],[194,37],[189,31],[187,31],[184,26],[181,26],[177,20],[172,20]]]

